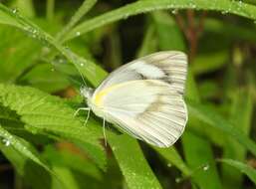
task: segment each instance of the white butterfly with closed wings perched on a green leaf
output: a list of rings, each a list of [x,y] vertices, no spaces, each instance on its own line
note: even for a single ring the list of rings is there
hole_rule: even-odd
[[[186,55],[166,51],[137,59],[113,72],[95,91],[83,88],[89,108],[131,136],[158,147],[182,134]]]

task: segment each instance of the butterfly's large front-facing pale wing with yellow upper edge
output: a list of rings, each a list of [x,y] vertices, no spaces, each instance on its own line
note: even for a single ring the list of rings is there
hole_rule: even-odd
[[[105,88],[95,93],[92,102],[108,121],[159,147],[173,144],[187,120],[182,95],[157,80],[130,81]]]

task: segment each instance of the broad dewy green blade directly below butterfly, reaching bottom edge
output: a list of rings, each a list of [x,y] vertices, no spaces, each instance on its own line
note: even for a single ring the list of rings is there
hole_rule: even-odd
[[[126,134],[108,137],[128,188],[161,188],[135,139]]]

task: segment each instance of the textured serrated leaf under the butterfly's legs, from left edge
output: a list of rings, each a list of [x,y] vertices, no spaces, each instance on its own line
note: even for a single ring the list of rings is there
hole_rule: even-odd
[[[94,146],[97,153],[89,155],[102,168],[106,164],[105,152],[99,141],[102,130],[98,124],[89,121],[87,126],[83,126],[81,119],[74,117],[75,110],[61,98],[32,88],[0,85],[0,102],[15,110],[33,133],[57,134],[73,142]]]

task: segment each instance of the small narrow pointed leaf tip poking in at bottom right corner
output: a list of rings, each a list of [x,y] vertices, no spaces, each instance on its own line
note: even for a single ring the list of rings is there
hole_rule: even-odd
[[[243,172],[251,179],[251,181],[254,182],[254,184],[256,184],[256,170],[253,167],[233,159],[219,159],[219,161],[226,163]]]

